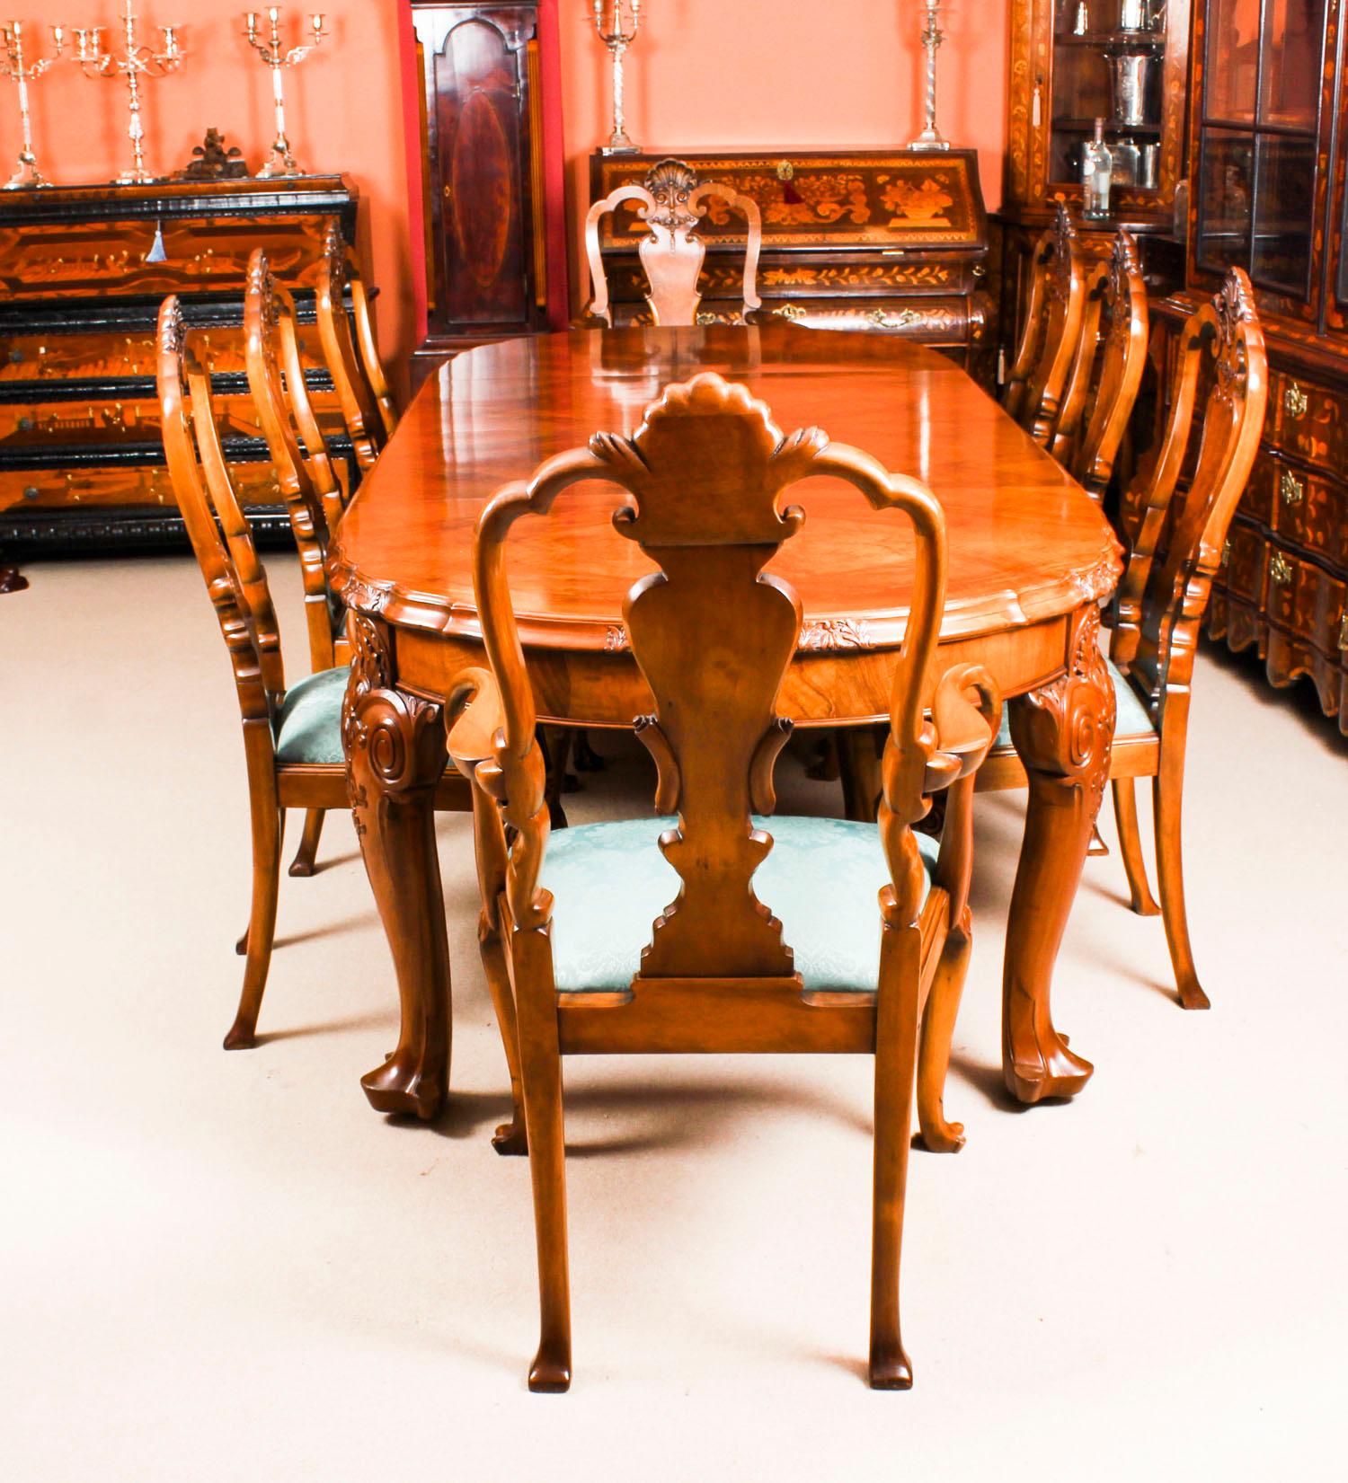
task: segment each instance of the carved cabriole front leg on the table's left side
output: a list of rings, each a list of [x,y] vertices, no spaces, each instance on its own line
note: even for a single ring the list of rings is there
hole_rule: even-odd
[[[449,1077],[449,946],[433,801],[445,771],[442,707],[394,688],[383,629],[351,618],[343,704],[347,785],[360,853],[397,973],[397,1048],[360,1078],[378,1112],[433,1118]]]

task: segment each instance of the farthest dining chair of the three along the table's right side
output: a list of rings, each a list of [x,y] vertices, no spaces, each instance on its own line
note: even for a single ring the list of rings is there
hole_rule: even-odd
[[[1002,406],[1044,448],[1077,353],[1084,300],[1086,257],[1059,202],[1053,225],[1031,255],[1025,323],[1002,393]]]

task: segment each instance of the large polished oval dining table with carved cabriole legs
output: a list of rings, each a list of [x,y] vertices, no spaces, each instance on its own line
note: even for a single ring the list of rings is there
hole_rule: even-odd
[[[1029,777],[1008,908],[1002,1069],[1023,1102],[1081,1090],[1091,1065],[1050,1014],[1050,985],[1109,773],[1115,698],[1100,599],[1120,547],[1084,489],[959,366],[922,346],[782,325],[586,329],[469,350],[427,381],[332,540],[350,612],[343,712],[351,807],[397,974],[402,1029],[362,1078],[374,1108],[432,1118],[448,1094],[451,1003],[432,799],[445,767],[442,703],[485,663],[473,529],[489,495],[596,432],[630,433],[670,381],[743,381],[790,433],[816,426],[940,500],[945,618],[930,682],[977,661],[1008,703]],[[771,565],[804,626],[777,700],[799,728],[888,715],[912,581],[911,534],[847,485],[814,479],[805,525]],[[630,728],[652,709],[623,629],[650,568],[611,526],[615,494],[580,485],[512,535],[510,590],[544,722]]]

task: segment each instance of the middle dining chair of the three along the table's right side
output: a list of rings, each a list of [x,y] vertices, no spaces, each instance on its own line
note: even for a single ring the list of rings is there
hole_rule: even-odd
[[[1048,452],[1103,501],[1146,366],[1146,282],[1123,227],[1086,279],[1081,328]]]

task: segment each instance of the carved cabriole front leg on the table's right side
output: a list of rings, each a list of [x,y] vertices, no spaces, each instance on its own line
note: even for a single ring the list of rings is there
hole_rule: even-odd
[[[1022,1102],[1074,1096],[1094,1069],[1053,1028],[1048,989],[1114,744],[1114,685],[1099,633],[1090,602],[1072,617],[1066,673],[1010,706],[1029,804],[1007,919],[1002,1075]]]

